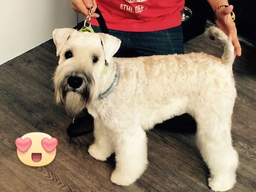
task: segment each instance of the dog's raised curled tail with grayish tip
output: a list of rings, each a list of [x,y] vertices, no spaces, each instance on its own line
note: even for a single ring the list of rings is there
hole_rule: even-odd
[[[224,53],[221,57],[225,65],[231,65],[234,62],[234,46],[228,36],[217,27],[209,27],[206,31],[207,36],[211,39],[219,39],[224,47]]]

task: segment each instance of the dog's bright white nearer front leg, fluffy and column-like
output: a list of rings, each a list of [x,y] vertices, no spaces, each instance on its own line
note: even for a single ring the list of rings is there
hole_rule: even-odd
[[[116,168],[111,181],[130,185],[145,171],[147,165],[146,132],[139,126],[115,133]]]

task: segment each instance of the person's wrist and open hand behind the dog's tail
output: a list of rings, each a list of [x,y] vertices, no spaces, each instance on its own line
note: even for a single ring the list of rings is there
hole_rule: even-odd
[[[233,6],[229,5],[228,0],[207,0],[213,12],[216,12],[216,24],[232,41],[235,48],[235,56],[241,56],[242,48],[237,37],[237,29],[234,21],[232,20],[231,12]],[[222,5],[229,5],[228,7],[219,8]],[[219,9],[218,9],[219,8]],[[216,11],[218,10],[218,11]]]

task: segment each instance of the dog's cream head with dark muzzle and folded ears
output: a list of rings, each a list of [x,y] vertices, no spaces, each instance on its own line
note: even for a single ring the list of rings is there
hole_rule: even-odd
[[[104,66],[111,63],[121,40],[103,33],[55,29],[53,41],[60,56],[54,73],[55,100],[64,103],[69,115],[76,115],[98,98]]]

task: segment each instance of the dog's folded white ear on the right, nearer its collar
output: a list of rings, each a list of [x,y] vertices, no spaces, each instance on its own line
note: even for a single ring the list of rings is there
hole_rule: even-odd
[[[110,63],[111,58],[120,48],[121,40],[115,36],[110,36],[109,34],[105,34],[105,33],[98,33],[98,34],[101,37],[106,61]]]

